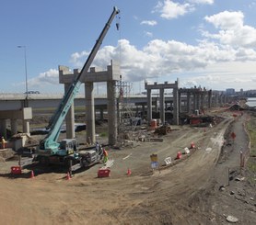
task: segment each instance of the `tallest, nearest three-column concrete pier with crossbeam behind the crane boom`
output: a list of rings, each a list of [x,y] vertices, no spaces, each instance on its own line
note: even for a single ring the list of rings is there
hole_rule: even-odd
[[[59,81],[60,84],[71,84],[74,80],[78,70],[74,70],[74,73],[69,72],[69,68],[65,66],[59,66]],[[120,79],[120,67],[117,62],[112,62],[107,66],[107,71],[97,72],[94,67],[90,68],[89,72],[81,74],[80,82],[85,84],[86,90],[86,123],[87,123],[87,142],[94,143],[96,141],[95,136],[95,107],[94,107],[94,95],[93,85],[96,82],[107,82],[107,94],[108,94],[108,112],[109,112],[109,144],[114,145],[117,141],[117,107],[115,96],[115,82]],[[74,109],[71,109],[74,111]],[[111,116],[110,116],[111,115]],[[72,112],[70,117],[66,117],[66,124],[74,128],[74,117]],[[72,128],[72,130],[73,130]],[[72,134],[73,135],[73,134]]]

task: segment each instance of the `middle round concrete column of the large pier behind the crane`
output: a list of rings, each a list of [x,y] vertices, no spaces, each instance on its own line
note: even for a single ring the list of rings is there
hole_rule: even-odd
[[[93,83],[86,82],[86,123],[87,123],[87,143],[95,143],[95,113]]]

